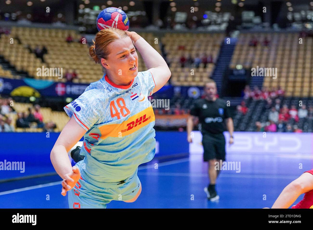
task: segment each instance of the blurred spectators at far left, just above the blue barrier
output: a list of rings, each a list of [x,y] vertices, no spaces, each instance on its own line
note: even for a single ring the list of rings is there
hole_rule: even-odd
[[[11,114],[17,115],[16,128],[42,128],[44,132],[54,132],[56,124],[54,122],[43,122],[43,115],[40,105],[28,108],[28,112],[17,112],[14,110],[12,98],[0,98],[0,132],[15,132],[12,125]]]

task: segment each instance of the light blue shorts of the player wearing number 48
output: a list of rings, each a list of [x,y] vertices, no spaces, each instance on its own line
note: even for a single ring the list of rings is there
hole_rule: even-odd
[[[81,177],[75,187],[68,191],[69,208],[106,208],[106,204],[112,200],[127,202],[139,192],[141,183],[137,176],[138,168],[123,184],[107,183],[87,176],[80,167],[82,162],[75,165],[80,169]]]

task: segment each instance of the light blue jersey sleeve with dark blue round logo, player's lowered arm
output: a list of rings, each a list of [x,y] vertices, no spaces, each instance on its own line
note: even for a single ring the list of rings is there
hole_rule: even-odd
[[[101,91],[98,89],[85,91],[77,99],[64,107],[69,117],[74,115],[81,127],[88,131],[103,115],[104,100],[101,100]]]

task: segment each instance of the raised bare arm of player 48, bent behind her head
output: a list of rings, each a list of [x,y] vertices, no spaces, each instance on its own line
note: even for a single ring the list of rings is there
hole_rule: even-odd
[[[153,93],[155,93],[167,83],[168,79],[170,79],[171,71],[163,57],[155,49],[153,49],[153,47],[147,43],[145,39],[135,32],[126,31],[126,33],[134,41],[135,46],[141,54],[148,70],[153,75],[156,84],[153,89]]]

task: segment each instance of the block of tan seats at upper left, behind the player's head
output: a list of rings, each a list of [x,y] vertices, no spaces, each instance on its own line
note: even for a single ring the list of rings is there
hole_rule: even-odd
[[[74,39],[72,43],[66,42],[69,34]],[[152,33],[140,33],[140,35],[161,53],[159,45],[154,43],[155,36]],[[76,70],[78,78],[73,80],[74,83],[91,83],[99,80],[103,73],[101,65],[95,64],[89,57],[89,45],[77,42],[80,37],[81,35],[74,30],[13,27],[11,34],[1,36],[0,55],[3,55],[18,71],[25,71],[35,79],[66,81],[64,77],[58,79],[57,76],[38,76],[37,68],[44,66],[45,68],[63,68],[63,76],[67,70],[69,72]],[[14,43],[10,44],[10,38],[19,38],[21,44],[17,40],[13,40]],[[46,47],[48,54],[44,55],[44,63],[36,58],[35,54],[29,52],[28,45],[31,49],[37,46]],[[146,66],[139,52],[137,54],[139,71],[144,71]]]

